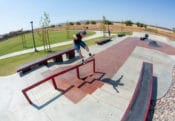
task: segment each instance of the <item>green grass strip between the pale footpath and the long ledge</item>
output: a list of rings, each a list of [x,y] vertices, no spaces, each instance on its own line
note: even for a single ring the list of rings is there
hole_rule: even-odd
[[[88,41],[86,41],[86,43],[89,46],[94,45],[97,40],[101,40],[101,39],[103,39],[103,37],[88,40]],[[61,47],[55,47],[55,48],[52,48],[52,51],[59,51],[59,50],[63,50],[65,48],[69,48],[72,46],[73,46],[72,44],[69,44],[69,45],[65,45],[65,46],[61,46]],[[0,60],[0,65],[1,65],[0,76],[13,74],[16,72],[16,67],[18,67],[22,64],[31,62],[33,60],[36,60],[38,58],[41,58],[43,56],[46,56],[48,54],[50,54],[50,53],[47,53],[45,51],[39,51],[37,53],[33,52],[33,53],[23,54],[23,55]]]

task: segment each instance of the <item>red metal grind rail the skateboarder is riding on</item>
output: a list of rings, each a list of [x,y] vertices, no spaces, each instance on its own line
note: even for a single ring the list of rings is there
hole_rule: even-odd
[[[92,59],[89,59],[89,60],[86,61],[86,63],[90,63],[90,62],[93,62],[93,72],[95,72],[95,59],[92,58]],[[39,82],[37,82],[37,83],[35,83],[35,84],[33,84],[33,85],[27,87],[27,88],[25,88],[25,89],[23,89],[23,90],[22,90],[22,93],[24,94],[24,96],[25,96],[25,98],[27,99],[27,101],[28,101],[30,104],[33,104],[32,101],[31,101],[31,99],[30,99],[29,96],[27,95],[27,91],[29,91],[29,90],[31,90],[31,89],[37,87],[38,85],[40,85],[40,84],[42,84],[42,83],[44,83],[44,82],[47,82],[47,81],[49,81],[49,80],[52,80],[52,84],[53,84],[54,88],[57,89],[56,82],[55,82],[55,77],[56,77],[56,76],[59,76],[59,75],[61,75],[61,74],[64,74],[64,73],[66,73],[66,72],[68,72],[68,71],[71,71],[71,70],[73,70],[73,69],[76,69],[77,78],[80,78],[80,75],[79,75],[79,67],[80,67],[80,66],[83,66],[83,65],[84,65],[84,64],[82,64],[82,63],[80,64],[80,63],[79,63],[79,64],[77,64],[77,65],[75,65],[75,66],[73,66],[73,67],[70,67],[70,68],[68,68],[68,69],[66,69],[66,70],[64,70],[64,71],[61,71],[61,72],[58,72],[58,73],[53,74],[53,75],[51,75],[51,76],[48,76],[47,78],[45,78],[45,79],[43,79],[43,80],[41,80],[41,81],[39,81]]]

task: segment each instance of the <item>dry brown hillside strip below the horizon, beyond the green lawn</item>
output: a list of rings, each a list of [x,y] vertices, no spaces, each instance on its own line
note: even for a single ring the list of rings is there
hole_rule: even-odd
[[[89,24],[89,25],[85,25],[85,24],[81,24],[81,25],[70,25],[69,26],[69,30],[81,30],[83,29],[83,27],[88,26],[89,30],[102,30],[102,24],[101,23],[97,23],[95,25],[93,24]],[[173,31],[170,30],[166,30],[166,29],[161,29],[161,28],[156,28],[156,27],[152,27],[152,26],[147,26],[147,28],[141,28],[141,27],[137,27],[136,25],[133,26],[126,26],[125,24],[121,24],[121,23],[114,23],[113,25],[109,25],[110,31],[111,32],[150,32],[156,35],[161,35],[161,36],[165,36],[168,37],[170,40],[174,40],[175,41],[175,33]],[[50,28],[50,30],[55,30],[55,31],[60,31],[60,30],[66,30],[67,27],[65,25],[62,26],[56,26],[53,28]],[[106,31],[108,30],[108,26],[106,25]]]

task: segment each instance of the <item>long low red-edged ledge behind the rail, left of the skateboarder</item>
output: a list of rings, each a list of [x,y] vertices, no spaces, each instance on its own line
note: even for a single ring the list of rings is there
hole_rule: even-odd
[[[55,62],[63,62],[63,57],[62,55],[66,54],[66,57],[68,59],[72,59],[75,57],[75,49],[74,48],[68,48],[62,51],[58,51],[56,53],[50,54],[48,56],[45,56],[43,58],[39,58],[37,60],[34,60],[30,63],[26,63],[24,65],[18,66],[16,71],[17,72],[27,72],[31,70],[33,67],[38,66],[38,65],[47,65],[48,60],[53,59]]]

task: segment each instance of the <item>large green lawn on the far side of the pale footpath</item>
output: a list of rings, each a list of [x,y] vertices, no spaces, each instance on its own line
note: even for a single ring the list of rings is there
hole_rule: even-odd
[[[50,42],[51,44],[53,43],[58,43],[58,42],[64,42],[72,39],[72,35],[75,34],[77,31],[69,31],[69,38],[67,38],[67,32],[66,31],[49,31],[49,37],[50,37]],[[95,32],[93,31],[88,31],[87,36],[93,35]],[[36,46],[42,46],[43,42],[41,41],[41,38],[39,37],[39,34],[35,32],[35,40],[36,40]],[[26,47],[23,47],[22,44],[22,35],[16,36],[13,38],[9,38],[4,41],[0,41],[0,56],[20,51],[20,50],[25,50],[29,48],[33,48],[33,39],[32,39],[32,34],[28,33],[25,34],[25,45]]]

